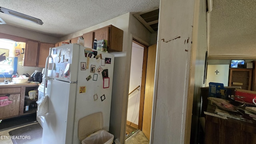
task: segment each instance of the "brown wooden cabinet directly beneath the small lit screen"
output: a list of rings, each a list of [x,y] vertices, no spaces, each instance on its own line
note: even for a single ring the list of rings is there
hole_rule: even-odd
[[[244,90],[251,90],[252,69],[230,68],[228,86],[241,86]]]

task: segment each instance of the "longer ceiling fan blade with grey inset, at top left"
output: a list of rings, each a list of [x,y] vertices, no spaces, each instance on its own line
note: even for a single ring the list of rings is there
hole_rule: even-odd
[[[17,18],[21,18],[23,20],[27,20],[27,21],[30,21],[30,22],[34,22],[36,24],[40,24],[42,25],[43,22],[42,20],[38,19],[38,18],[34,18],[32,16],[28,16],[26,14],[22,14],[22,13],[19,13],[19,12],[15,12],[13,10],[9,10],[7,8],[3,8],[3,7],[0,7],[0,12],[4,13],[4,14],[8,14],[8,15],[11,15],[11,16],[15,16]]]

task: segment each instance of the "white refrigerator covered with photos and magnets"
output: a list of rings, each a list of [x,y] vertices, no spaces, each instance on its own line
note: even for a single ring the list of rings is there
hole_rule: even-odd
[[[42,144],[80,144],[78,120],[102,112],[109,130],[114,55],[68,44],[52,48]]]

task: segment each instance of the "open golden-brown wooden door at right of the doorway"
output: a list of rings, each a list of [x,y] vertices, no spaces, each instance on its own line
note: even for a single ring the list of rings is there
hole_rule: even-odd
[[[146,69],[146,84],[144,96],[144,110],[142,132],[150,140],[151,118],[152,118],[152,105],[154,94],[154,79],[155,79],[155,66],[156,66],[156,44],[148,47],[148,60]]]

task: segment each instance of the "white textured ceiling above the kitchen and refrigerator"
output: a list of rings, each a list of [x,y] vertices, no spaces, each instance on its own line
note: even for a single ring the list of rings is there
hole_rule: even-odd
[[[160,0],[0,0],[0,7],[38,18],[34,24],[0,12],[7,24],[58,38],[128,12],[159,7]],[[0,25],[1,26],[1,25]]]

